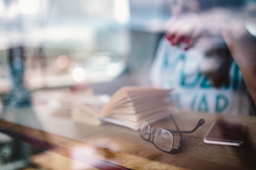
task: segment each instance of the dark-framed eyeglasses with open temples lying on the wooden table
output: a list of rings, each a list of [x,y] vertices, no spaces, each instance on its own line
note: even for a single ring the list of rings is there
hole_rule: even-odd
[[[178,154],[181,152],[181,141],[182,141],[181,133],[195,132],[201,125],[203,125],[203,123],[205,123],[205,120],[201,118],[198,121],[198,124],[196,125],[196,127],[193,128],[193,130],[186,131],[186,130],[179,130],[178,125],[176,124],[176,121],[174,120],[172,115],[170,115],[170,118],[171,120],[173,120],[177,130],[164,130],[162,128],[158,128],[154,130],[154,128],[151,128],[149,123],[144,120],[141,125],[140,135],[144,140],[147,140],[153,143],[155,147],[157,147],[161,151],[167,152],[169,154]],[[180,140],[178,142],[177,148],[174,148],[174,137],[171,134],[171,132],[179,133],[180,135]],[[154,135],[152,140],[150,140],[151,135]]]

